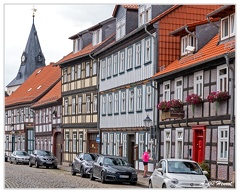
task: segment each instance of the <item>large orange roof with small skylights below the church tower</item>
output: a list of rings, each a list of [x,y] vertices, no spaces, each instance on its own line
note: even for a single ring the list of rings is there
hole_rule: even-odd
[[[61,69],[54,63],[36,69],[15,92],[5,97],[5,107],[35,102],[56,84],[60,77]]]

